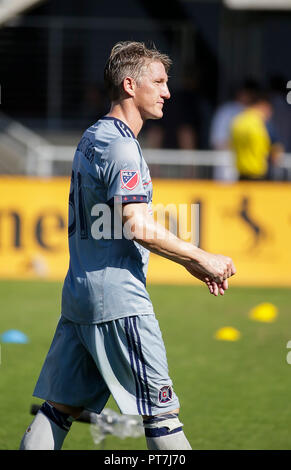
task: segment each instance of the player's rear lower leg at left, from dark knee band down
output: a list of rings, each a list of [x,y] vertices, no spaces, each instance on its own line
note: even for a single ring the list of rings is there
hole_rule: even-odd
[[[42,404],[24,433],[19,450],[60,450],[83,408],[51,401]]]

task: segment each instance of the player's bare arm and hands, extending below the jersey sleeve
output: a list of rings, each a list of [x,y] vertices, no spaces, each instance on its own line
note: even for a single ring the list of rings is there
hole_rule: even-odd
[[[147,204],[124,205],[122,219],[128,238],[181,264],[192,276],[205,282],[212,294],[223,294],[228,288],[227,279],[236,272],[231,258],[207,253],[176,237],[154,220]]]

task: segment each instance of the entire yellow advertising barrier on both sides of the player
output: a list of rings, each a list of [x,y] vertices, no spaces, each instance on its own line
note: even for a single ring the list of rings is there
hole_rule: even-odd
[[[68,194],[68,178],[0,178],[0,278],[63,280],[69,263]],[[233,258],[232,284],[291,286],[291,185],[155,180],[153,202],[154,208],[177,207],[177,230],[185,239],[191,204],[199,204],[197,241],[206,251]],[[171,224],[171,213],[166,222]],[[152,254],[148,283],[199,281]]]

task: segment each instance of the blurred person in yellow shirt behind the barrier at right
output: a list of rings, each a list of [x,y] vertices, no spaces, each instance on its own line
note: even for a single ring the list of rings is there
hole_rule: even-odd
[[[252,104],[238,114],[231,125],[230,145],[235,155],[240,180],[273,179],[283,147],[271,129],[272,104],[260,93]]]

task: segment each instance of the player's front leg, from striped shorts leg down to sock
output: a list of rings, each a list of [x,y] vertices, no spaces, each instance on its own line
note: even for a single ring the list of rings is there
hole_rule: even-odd
[[[88,326],[80,329],[85,335]],[[143,416],[148,448],[190,450],[178,419],[179,400],[168,376],[155,316],[97,324],[94,335],[85,336],[90,338],[88,349],[121,413]]]

